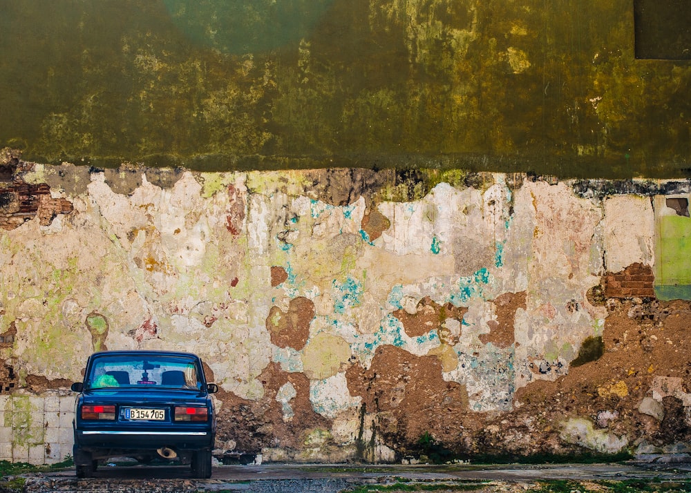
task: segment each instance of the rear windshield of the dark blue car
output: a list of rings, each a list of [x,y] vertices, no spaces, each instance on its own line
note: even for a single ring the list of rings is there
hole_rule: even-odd
[[[89,389],[163,387],[201,389],[196,360],[181,356],[99,356],[86,379]]]

